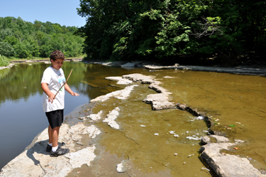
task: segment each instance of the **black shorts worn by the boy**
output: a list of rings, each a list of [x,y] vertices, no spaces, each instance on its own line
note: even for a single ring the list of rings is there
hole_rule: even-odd
[[[55,129],[55,127],[61,127],[63,120],[64,120],[64,109],[58,109],[51,112],[45,112],[50,127]]]

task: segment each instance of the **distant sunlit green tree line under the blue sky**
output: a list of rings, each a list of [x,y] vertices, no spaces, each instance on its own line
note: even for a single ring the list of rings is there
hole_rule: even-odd
[[[75,26],[49,21],[31,23],[20,17],[0,17],[0,55],[47,58],[53,50],[61,50],[66,57],[79,56],[84,39],[74,35],[75,31]]]

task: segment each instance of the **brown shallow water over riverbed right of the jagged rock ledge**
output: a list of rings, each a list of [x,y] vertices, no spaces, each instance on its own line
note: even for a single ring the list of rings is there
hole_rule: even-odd
[[[245,141],[238,150],[232,147],[231,154],[248,156],[255,168],[266,168],[265,76],[187,70],[152,74],[158,79],[165,75],[173,77],[164,79],[162,87],[173,93],[174,101],[209,114],[216,122],[211,129],[217,134]]]

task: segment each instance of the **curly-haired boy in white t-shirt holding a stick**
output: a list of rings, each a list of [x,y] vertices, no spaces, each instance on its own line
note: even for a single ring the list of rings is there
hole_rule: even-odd
[[[58,146],[59,129],[64,118],[65,107],[65,90],[72,96],[79,96],[76,92],[70,89],[70,86],[65,84],[65,87],[60,87],[66,82],[65,75],[62,70],[62,65],[65,60],[65,55],[60,50],[55,50],[50,55],[52,65],[43,72],[41,87],[43,89],[43,111],[48,117],[49,127],[49,143],[46,151],[50,151],[51,156],[60,156],[67,154],[70,149],[62,149]],[[60,89],[55,97],[55,94]]]

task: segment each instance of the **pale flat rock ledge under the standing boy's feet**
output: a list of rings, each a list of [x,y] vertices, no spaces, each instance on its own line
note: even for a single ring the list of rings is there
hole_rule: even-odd
[[[74,168],[80,168],[83,164],[90,166],[90,162],[96,157],[95,146],[84,145],[82,135],[93,139],[97,134],[100,131],[94,125],[87,127],[79,122],[70,127],[62,124],[59,141],[65,142],[62,148],[69,148],[70,153],[50,157],[50,152],[45,151],[48,144],[48,129],[45,129],[23,153],[1,169],[0,176],[67,176]]]

